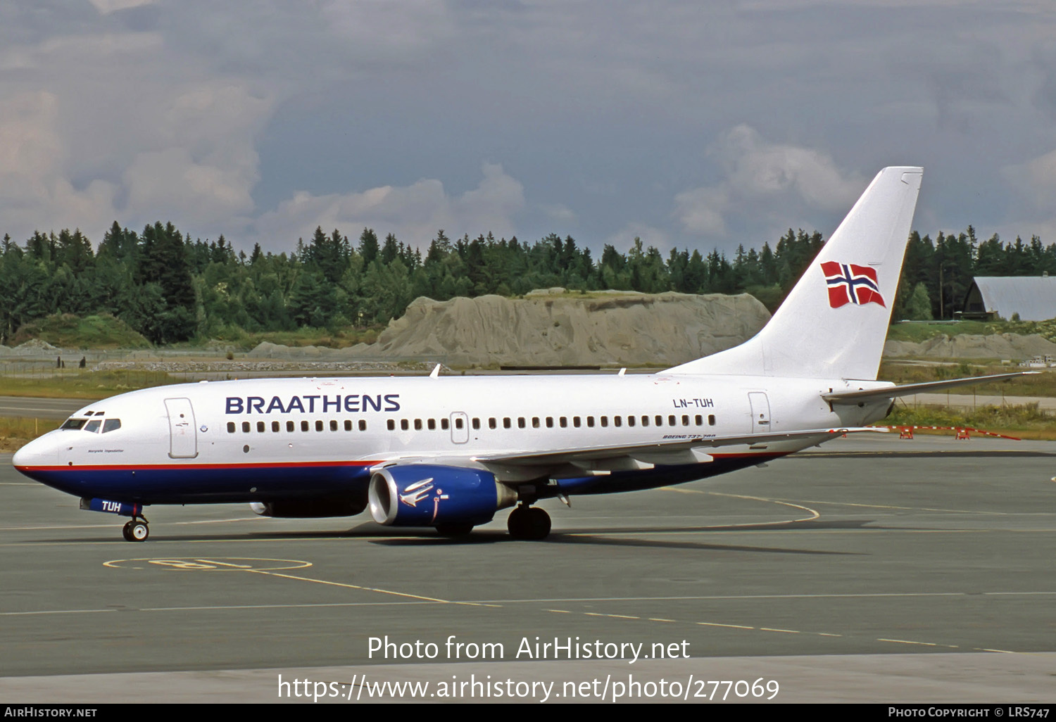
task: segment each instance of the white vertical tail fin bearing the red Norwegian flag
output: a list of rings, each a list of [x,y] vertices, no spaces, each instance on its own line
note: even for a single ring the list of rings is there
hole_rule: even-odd
[[[922,175],[882,170],[762,330],[666,373],[875,379]]]

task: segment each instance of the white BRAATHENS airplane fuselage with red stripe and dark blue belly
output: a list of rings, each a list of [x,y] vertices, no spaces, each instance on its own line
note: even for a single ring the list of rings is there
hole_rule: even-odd
[[[298,484],[333,491],[397,460],[475,466],[487,455],[860,425],[883,416],[875,404],[835,413],[819,396],[846,387],[816,379],[662,374],[178,384],[90,404],[71,418],[119,419],[120,428],[51,432],[23,448],[15,464],[80,496],[253,500],[297,494]],[[811,443],[743,444],[719,456],[771,457]],[[517,473],[498,480],[524,480]],[[702,468],[700,477],[712,473]],[[603,492],[604,481],[592,488]]]

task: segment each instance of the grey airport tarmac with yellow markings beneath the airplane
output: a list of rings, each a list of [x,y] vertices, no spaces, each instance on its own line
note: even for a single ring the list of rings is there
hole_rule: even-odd
[[[547,501],[538,543],[224,505],[135,544],[2,456],[0,699],[1053,702],[1054,476],[1056,442],[870,435]]]

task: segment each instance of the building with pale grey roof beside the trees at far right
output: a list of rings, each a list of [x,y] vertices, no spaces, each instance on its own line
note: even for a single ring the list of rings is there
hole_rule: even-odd
[[[1056,277],[977,276],[964,297],[961,318],[1011,321],[1056,318]]]

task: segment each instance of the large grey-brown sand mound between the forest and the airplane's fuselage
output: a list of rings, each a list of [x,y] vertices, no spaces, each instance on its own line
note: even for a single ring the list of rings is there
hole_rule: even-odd
[[[370,346],[328,350],[261,344],[249,356],[435,359],[456,366],[675,365],[741,343],[769,318],[747,293],[550,289],[524,299],[419,298]]]

